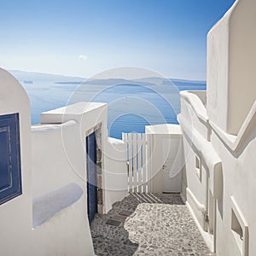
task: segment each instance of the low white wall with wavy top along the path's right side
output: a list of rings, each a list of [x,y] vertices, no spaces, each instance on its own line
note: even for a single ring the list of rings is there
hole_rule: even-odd
[[[213,250],[215,229],[214,204],[222,193],[221,160],[213,148],[211,127],[204,102],[197,91],[181,92],[178,121],[183,130],[182,196],[193,212],[208,246]],[[207,220],[208,218],[208,220]]]

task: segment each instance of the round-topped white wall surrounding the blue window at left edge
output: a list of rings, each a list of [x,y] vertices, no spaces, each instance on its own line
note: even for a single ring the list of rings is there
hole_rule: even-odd
[[[0,114],[7,113],[20,114],[22,195],[0,206],[1,253],[25,256],[32,241],[30,104],[16,79],[0,69]]]

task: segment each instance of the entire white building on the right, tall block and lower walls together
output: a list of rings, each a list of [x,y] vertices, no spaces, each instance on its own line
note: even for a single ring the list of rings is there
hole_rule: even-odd
[[[236,1],[208,34],[207,104],[181,93],[182,195],[218,256],[256,254],[255,4]]]

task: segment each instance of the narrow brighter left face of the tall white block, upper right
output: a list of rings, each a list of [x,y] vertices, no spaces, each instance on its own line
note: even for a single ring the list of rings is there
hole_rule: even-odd
[[[207,36],[207,113],[224,131],[228,130],[230,12]]]

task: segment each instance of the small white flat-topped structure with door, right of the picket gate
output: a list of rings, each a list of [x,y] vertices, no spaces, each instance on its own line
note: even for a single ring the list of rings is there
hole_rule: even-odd
[[[179,125],[148,125],[148,191],[180,192],[183,170],[183,141]]]

